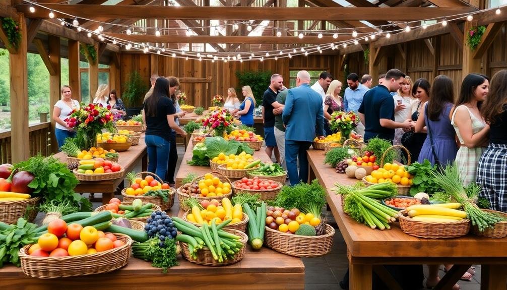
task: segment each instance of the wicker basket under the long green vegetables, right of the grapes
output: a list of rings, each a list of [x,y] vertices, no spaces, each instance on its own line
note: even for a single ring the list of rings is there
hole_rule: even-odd
[[[234,259],[225,260],[223,263],[219,263],[218,261],[215,261],[213,259],[213,256],[211,255],[211,251],[209,250],[209,248],[204,246],[202,249],[199,249],[197,251],[197,260],[195,260],[194,258],[192,258],[192,256],[190,256],[190,251],[187,243],[180,242],[179,244],[182,247],[183,258],[185,258],[191,263],[203,266],[227,266],[241,261],[241,259],[243,259],[243,256],[245,255],[245,248],[246,242],[248,241],[248,236],[245,233],[238,230],[225,228],[224,231],[241,237],[239,241],[243,244],[243,246],[241,247],[241,250],[236,253]]]

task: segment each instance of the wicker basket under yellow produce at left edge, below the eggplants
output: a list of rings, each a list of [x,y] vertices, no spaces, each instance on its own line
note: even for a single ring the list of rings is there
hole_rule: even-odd
[[[25,218],[31,222],[39,213],[40,197],[28,198],[25,200],[1,201],[0,202],[0,222],[13,224],[19,218]]]

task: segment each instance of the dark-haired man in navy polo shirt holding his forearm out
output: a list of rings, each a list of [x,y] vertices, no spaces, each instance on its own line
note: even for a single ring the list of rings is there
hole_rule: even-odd
[[[374,137],[391,141],[395,128],[410,129],[410,121],[394,122],[394,102],[389,92],[400,89],[405,74],[399,69],[387,71],[385,81],[369,90],[359,107],[359,118],[365,124],[365,142]]]

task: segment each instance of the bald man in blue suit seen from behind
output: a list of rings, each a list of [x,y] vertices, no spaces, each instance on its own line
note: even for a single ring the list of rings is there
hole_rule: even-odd
[[[298,184],[300,180],[308,182],[306,150],[310,148],[315,137],[315,130],[319,138],[324,138],[322,97],[310,88],[308,71],[300,70],[296,77],[296,88],[288,90],[282,120],[285,126],[285,162],[288,178],[291,185]]]

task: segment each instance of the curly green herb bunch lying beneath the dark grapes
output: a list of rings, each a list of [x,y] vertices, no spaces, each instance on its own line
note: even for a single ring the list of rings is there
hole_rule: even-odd
[[[153,267],[162,268],[162,272],[167,274],[167,269],[178,265],[176,240],[165,239],[163,246],[160,246],[159,243],[158,238],[151,238],[142,243],[134,242],[132,253],[135,258],[152,261]]]

